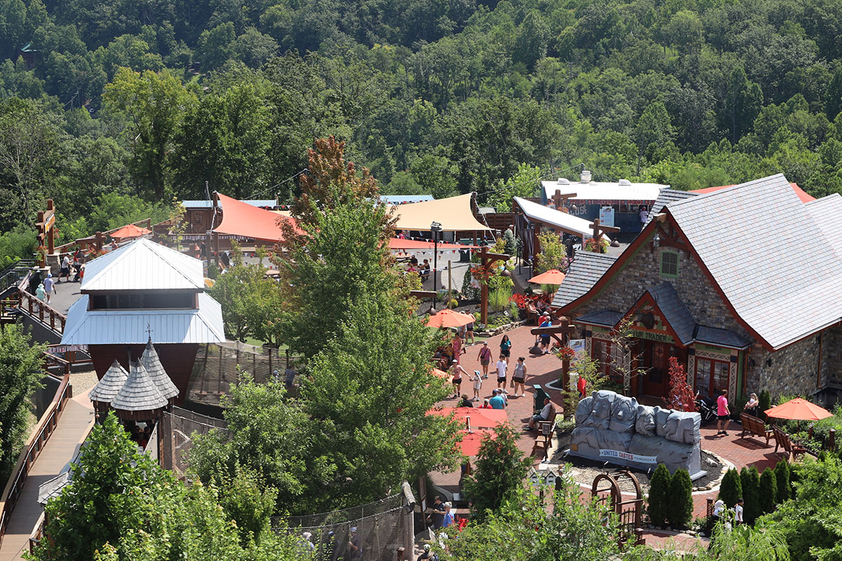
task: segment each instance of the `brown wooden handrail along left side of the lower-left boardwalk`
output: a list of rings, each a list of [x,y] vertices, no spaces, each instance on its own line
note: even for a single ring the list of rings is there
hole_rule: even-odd
[[[35,463],[35,459],[44,450],[45,444],[50,440],[52,433],[56,431],[58,420],[61,413],[64,412],[64,406],[67,400],[72,397],[73,387],[70,384],[70,374],[66,373],[61,377],[61,384],[56,389],[56,395],[53,396],[50,406],[45,410],[44,415],[41,415],[38,424],[35,425],[29,439],[24,444],[24,449],[21,451],[18,463],[15,464],[14,470],[8,478],[3,495],[0,495],[0,543],[3,542],[9,518],[18,503],[29,470]]]

